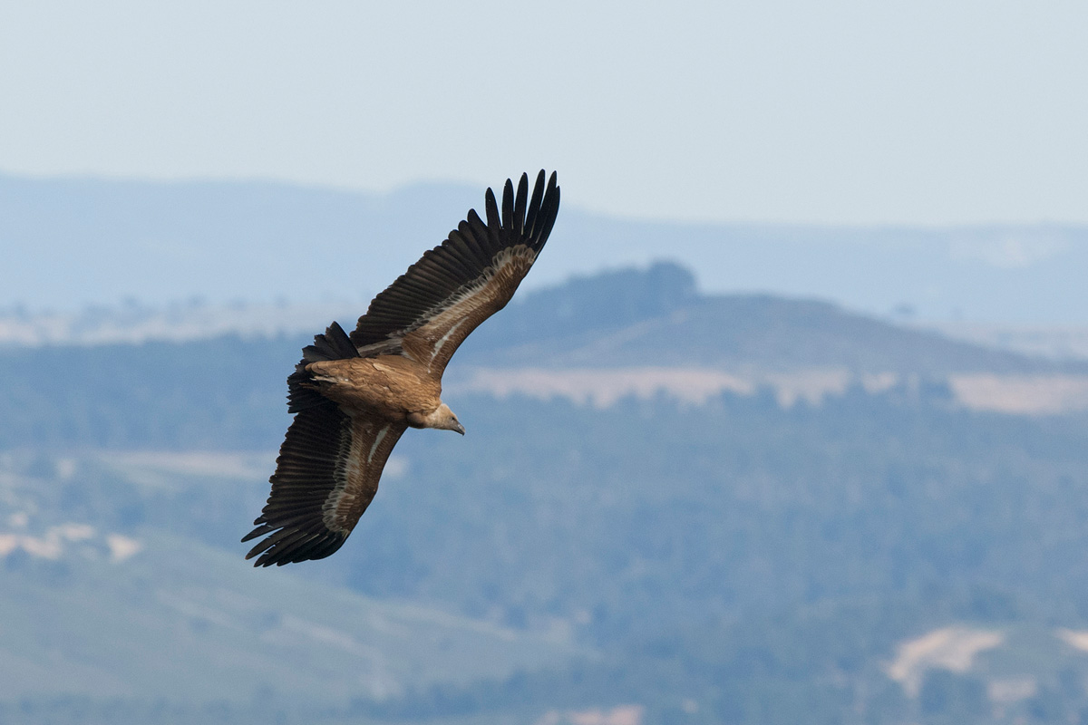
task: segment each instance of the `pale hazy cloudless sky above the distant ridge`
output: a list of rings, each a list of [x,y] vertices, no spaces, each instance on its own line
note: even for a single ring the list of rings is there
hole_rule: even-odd
[[[0,4],[0,171],[1088,223],[1088,2]]]

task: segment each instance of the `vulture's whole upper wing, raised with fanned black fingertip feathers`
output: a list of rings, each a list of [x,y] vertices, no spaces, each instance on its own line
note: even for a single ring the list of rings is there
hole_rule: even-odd
[[[487,189],[486,224],[470,210],[449,237],[374,298],[351,333],[359,354],[404,354],[441,375],[457,347],[510,301],[536,261],[559,211],[553,173],[536,176],[532,198],[521,175],[507,179],[499,212]]]

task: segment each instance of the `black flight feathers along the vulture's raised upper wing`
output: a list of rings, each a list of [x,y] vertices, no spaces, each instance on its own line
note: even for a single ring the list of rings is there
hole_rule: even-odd
[[[494,192],[487,189],[484,197],[486,224],[475,210],[469,210],[466,220],[442,245],[424,253],[370,303],[367,314],[359,317],[351,333],[351,341],[360,354],[400,352],[400,339],[407,333],[426,324],[455,302],[463,302],[465,295],[471,293],[474,284],[479,286],[481,277],[505,250],[524,246],[535,259],[547,241],[559,210],[556,175],[552,174],[546,188],[544,179],[541,171],[532,198],[528,193],[528,175],[521,175],[516,193],[514,184],[507,179],[502,212]],[[528,272],[528,267],[524,271]],[[509,301],[520,280],[518,277],[509,289],[500,290],[502,293],[492,300],[494,309],[490,313]]]

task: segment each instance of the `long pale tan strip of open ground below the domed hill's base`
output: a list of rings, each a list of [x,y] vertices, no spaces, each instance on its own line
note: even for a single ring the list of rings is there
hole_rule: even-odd
[[[1088,410],[1088,375],[972,374],[953,375],[948,383],[955,401],[972,410],[1031,415]],[[840,368],[770,373],[706,367],[521,367],[475,368],[447,388],[498,397],[568,398],[597,408],[607,408],[629,396],[647,399],[665,393],[701,404],[722,392],[751,396],[769,389],[779,404],[788,408],[802,400],[818,404],[827,396],[842,395],[851,385],[879,392],[901,384],[916,386],[917,379],[890,372],[858,376]]]

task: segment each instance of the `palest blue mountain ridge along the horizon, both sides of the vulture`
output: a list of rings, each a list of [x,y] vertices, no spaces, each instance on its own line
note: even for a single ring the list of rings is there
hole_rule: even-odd
[[[75,311],[129,298],[154,307],[194,297],[364,304],[480,207],[482,191],[432,184],[373,195],[0,174],[0,308]],[[697,270],[714,292],[818,297],[926,320],[1088,321],[1084,227],[636,222],[568,201],[553,237],[529,288],[664,257]]]

